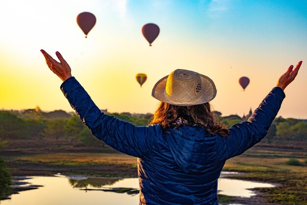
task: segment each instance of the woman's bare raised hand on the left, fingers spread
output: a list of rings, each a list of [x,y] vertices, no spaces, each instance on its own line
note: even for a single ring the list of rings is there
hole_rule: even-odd
[[[68,78],[72,77],[71,68],[63,59],[62,55],[57,51],[55,52],[56,57],[60,60],[60,62],[53,59],[46,51],[43,49],[41,50],[42,54],[46,59],[46,63],[50,70],[57,75],[63,82],[66,81]]]

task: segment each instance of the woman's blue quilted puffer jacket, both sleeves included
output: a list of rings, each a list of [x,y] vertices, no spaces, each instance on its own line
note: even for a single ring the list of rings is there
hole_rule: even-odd
[[[227,159],[258,143],[276,117],[283,98],[273,88],[248,121],[230,128],[229,137],[200,126],[135,126],[104,115],[74,77],[61,89],[82,122],[109,146],[138,157],[139,205],[218,205],[217,179]]]

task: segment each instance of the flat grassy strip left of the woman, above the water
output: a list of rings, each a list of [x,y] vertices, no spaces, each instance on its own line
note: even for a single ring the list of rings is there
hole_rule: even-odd
[[[136,158],[121,153],[45,153],[4,159],[13,176],[137,177]]]

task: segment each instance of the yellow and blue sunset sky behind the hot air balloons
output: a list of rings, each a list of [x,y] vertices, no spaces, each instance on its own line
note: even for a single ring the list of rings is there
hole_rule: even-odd
[[[88,38],[76,22],[84,11],[97,19]],[[0,109],[72,111],[44,49],[63,55],[100,109],[130,113],[153,113],[153,85],[182,68],[215,82],[214,110],[243,116],[303,60],[278,116],[307,118],[306,11],[307,0],[0,0]],[[160,28],[152,47],[147,23]]]

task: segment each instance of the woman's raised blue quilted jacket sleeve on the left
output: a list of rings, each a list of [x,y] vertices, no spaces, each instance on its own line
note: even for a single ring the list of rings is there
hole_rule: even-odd
[[[61,90],[81,121],[107,145],[135,157],[144,157],[151,149],[159,126],[135,126],[104,115],[74,77],[67,79]]]

